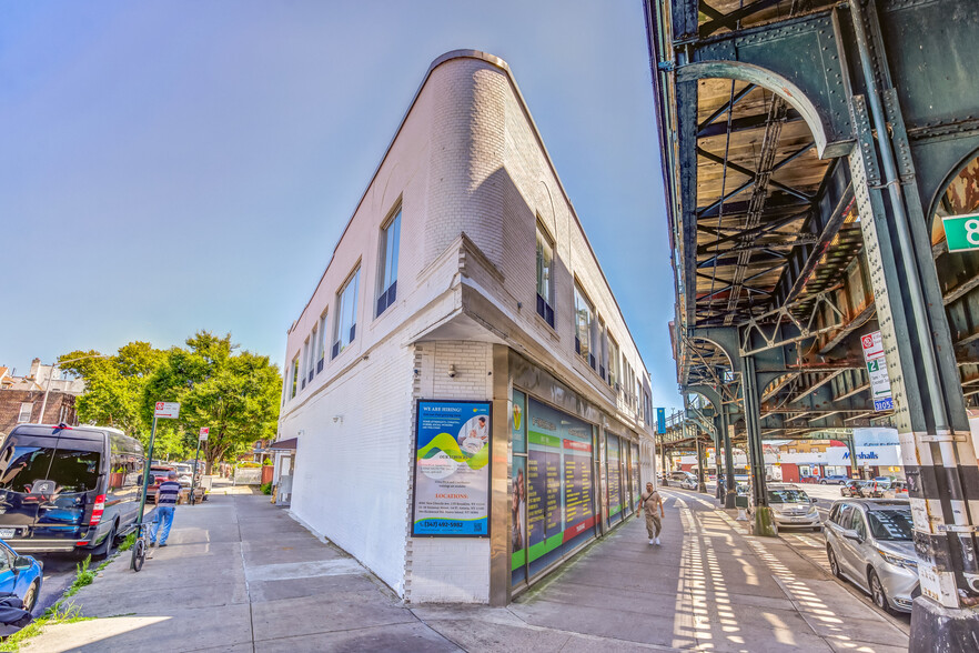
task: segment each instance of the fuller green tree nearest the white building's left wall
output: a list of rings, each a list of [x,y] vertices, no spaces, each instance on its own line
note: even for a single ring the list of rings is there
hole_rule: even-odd
[[[179,401],[180,419],[163,428],[182,431],[194,446],[200,429],[210,428],[201,448],[206,473],[214,462],[249,450],[256,440],[274,438],[282,376],[279,369],[248,351],[235,353],[231,334],[199,331],[186,349],[173,348],[145,385],[143,416],[152,419],[157,401]],[[157,426],[158,433],[161,424]]]

